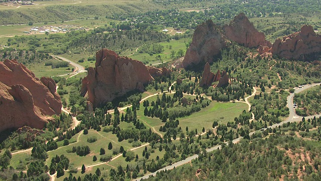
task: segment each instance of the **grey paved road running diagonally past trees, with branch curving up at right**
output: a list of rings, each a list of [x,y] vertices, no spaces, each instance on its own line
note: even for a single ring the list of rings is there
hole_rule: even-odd
[[[316,85],[320,85],[320,83],[313,83],[313,84],[304,85],[304,87],[302,87],[302,88],[297,88],[297,89],[295,89],[294,93],[300,93],[300,92],[305,91],[306,89],[311,88],[311,87],[316,86]],[[282,121],[282,122],[277,123],[277,124],[273,124],[272,126],[268,126],[267,128],[273,129],[273,128],[276,128],[276,127],[278,127],[278,126],[282,126],[284,123],[287,123],[287,122],[292,123],[292,122],[299,122],[299,121],[302,120],[302,118],[300,118],[299,116],[297,116],[297,115],[295,114],[295,111],[294,111],[294,108],[293,108],[292,98],[293,98],[293,96],[294,96],[294,93],[290,94],[290,95],[287,97],[287,106],[289,107],[289,110],[290,110],[289,117],[288,117],[285,121]],[[318,117],[321,117],[321,114],[319,114],[319,115],[313,115],[313,116],[306,116],[305,119],[312,119],[314,116],[315,116],[316,118],[318,118]],[[256,131],[253,131],[253,132],[249,133],[249,135],[251,136],[251,135],[253,135],[255,132],[256,132]],[[239,138],[236,138],[236,139],[232,140],[232,142],[235,144],[235,143],[238,143],[241,139],[242,139],[242,137],[239,137]],[[211,152],[211,151],[214,151],[214,150],[217,150],[217,149],[221,149],[221,148],[222,148],[221,145],[217,145],[217,146],[214,146],[214,147],[212,147],[212,148],[206,149],[206,151],[207,151],[207,152]],[[172,165],[169,165],[169,166],[166,166],[166,167],[164,167],[164,168],[158,169],[158,170],[155,171],[155,172],[146,174],[146,175],[144,175],[144,176],[142,176],[142,177],[139,177],[139,178],[136,178],[136,179],[133,179],[133,180],[138,181],[138,180],[141,180],[141,179],[147,179],[147,178],[148,178],[149,176],[151,176],[151,175],[152,175],[152,176],[155,176],[156,173],[159,172],[159,171],[164,171],[164,170],[173,169],[174,167],[178,167],[178,166],[181,166],[181,165],[183,165],[183,164],[186,164],[186,163],[190,162],[191,160],[196,159],[196,158],[198,158],[198,157],[199,157],[199,155],[195,154],[195,155],[193,155],[193,156],[190,156],[190,157],[186,158],[185,160],[181,160],[181,161],[176,162],[176,163],[174,163],[174,164],[172,164]]]

